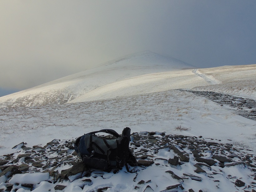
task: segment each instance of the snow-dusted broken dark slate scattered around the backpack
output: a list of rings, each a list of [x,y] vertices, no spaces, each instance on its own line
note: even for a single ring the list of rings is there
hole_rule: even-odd
[[[96,187],[95,183],[99,178],[110,180],[120,170],[103,172],[88,169],[78,160],[74,141],[55,139],[45,146],[30,148],[26,147],[26,143],[14,146],[16,153],[0,156],[0,192],[17,191],[20,188],[35,190],[42,182],[50,184],[50,187],[47,185],[49,191],[65,191],[74,181],[79,181],[76,187],[83,191],[100,192],[112,188],[113,185]],[[138,160],[138,166],[129,166],[130,173],[127,174],[134,174],[135,177],[127,183],[131,182],[135,190],[145,192],[198,191],[193,189],[194,186],[200,186],[204,181],[212,183],[216,191],[223,191],[220,188],[223,185],[233,186],[237,191],[255,191],[254,152],[219,142],[201,136],[165,135],[159,132],[133,133],[130,148]],[[157,179],[143,179],[143,171],[150,167],[163,170],[160,174],[176,184],[167,183],[165,190],[162,190],[163,186],[159,190],[161,184]],[[248,174],[244,178],[238,177],[235,172],[232,174],[234,168]],[[192,181],[198,183],[190,185]],[[202,186],[199,191],[205,191],[203,187],[205,188]]]

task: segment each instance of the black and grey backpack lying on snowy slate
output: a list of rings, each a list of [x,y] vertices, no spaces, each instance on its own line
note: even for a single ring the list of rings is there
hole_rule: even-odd
[[[104,132],[114,136],[107,138],[95,135]],[[120,136],[115,130],[102,129],[78,137],[75,142],[75,151],[83,163],[91,168],[111,170],[121,168],[128,163],[136,166],[137,161],[129,149],[130,128],[124,128]]]

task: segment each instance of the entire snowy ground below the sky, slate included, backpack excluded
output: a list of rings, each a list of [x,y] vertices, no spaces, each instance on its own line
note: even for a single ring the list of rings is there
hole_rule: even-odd
[[[0,191],[12,188],[12,191],[24,192],[28,187],[39,192],[59,191],[58,185],[64,187],[62,191],[73,192],[254,191],[255,70],[256,65],[195,69],[174,59],[142,52],[1,97],[4,107],[0,106],[0,163],[3,165],[0,166]],[[206,92],[195,94],[196,90]],[[213,96],[214,93],[207,91],[251,99],[219,93],[209,99],[206,94]],[[220,100],[222,103],[217,102]],[[248,114],[247,118],[243,114]],[[136,141],[143,146],[134,148],[135,155],[144,154],[140,150],[145,145],[149,155],[146,160],[154,161],[153,165],[135,167],[138,170],[133,173],[125,168],[116,174],[94,170],[91,175],[74,181],[65,178],[54,181],[59,173],[72,167],[70,160],[62,158],[73,154],[68,142],[95,130],[114,129],[121,133],[124,127],[130,127],[132,132],[143,132],[141,134],[165,132],[165,135],[151,135],[159,140],[154,145],[149,144],[154,139]],[[157,152],[152,148],[164,145],[160,144],[160,139],[166,141],[172,137],[176,138],[170,144],[172,149],[165,145]],[[62,140],[58,146],[54,145],[57,149],[46,145],[53,139]],[[22,148],[21,144],[13,148],[21,142],[26,142],[26,147]],[[173,146],[184,150],[189,158],[186,162],[180,159],[176,168],[168,163],[179,154]],[[39,154],[36,150],[42,151],[42,148],[45,153]],[[201,150],[201,154],[197,150]],[[20,158],[28,154],[31,155],[28,159],[27,156]],[[229,160],[232,164],[225,161],[221,164],[218,160],[214,165],[203,165],[203,170],[196,172],[197,162],[201,162],[196,160],[197,155],[211,161],[218,158],[214,157],[216,154],[232,158]],[[35,167],[39,162],[43,168]],[[3,175],[6,165],[27,165],[29,173]],[[56,177],[46,173],[45,168],[51,169]],[[170,173],[182,179],[177,180]],[[91,180],[90,185],[85,179]],[[144,184],[140,184],[142,180]],[[170,186],[176,187],[170,189]]]

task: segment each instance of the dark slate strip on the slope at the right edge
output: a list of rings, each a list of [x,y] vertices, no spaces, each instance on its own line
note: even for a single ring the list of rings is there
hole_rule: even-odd
[[[243,97],[236,97],[233,95],[227,95],[223,93],[217,93],[212,91],[192,91],[192,90],[180,90],[189,91],[198,96],[203,96],[216,103],[228,105],[241,116],[256,121],[256,101],[253,99],[246,99]]]

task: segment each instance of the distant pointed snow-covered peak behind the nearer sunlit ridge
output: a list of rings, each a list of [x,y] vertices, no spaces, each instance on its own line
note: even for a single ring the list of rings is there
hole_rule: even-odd
[[[92,90],[102,91],[101,87],[108,84],[120,84],[119,81],[122,82],[127,78],[192,67],[179,60],[163,57],[153,52],[139,52],[31,89],[0,97],[0,107],[62,104],[84,94],[92,95],[89,93]],[[81,98],[85,97],[86,95]],[[91,100],[95,98],[92,97]]]

